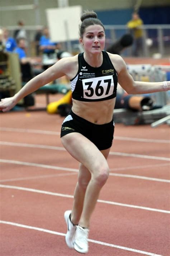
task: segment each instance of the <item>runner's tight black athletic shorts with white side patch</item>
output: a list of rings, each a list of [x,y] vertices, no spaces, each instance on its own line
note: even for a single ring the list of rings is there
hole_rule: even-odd
[[[69,133],[81,133],[99,150],[108,149],[112,146],[114,121],[97,125],[77,116],[71,110],[62,123],[61,137]]]

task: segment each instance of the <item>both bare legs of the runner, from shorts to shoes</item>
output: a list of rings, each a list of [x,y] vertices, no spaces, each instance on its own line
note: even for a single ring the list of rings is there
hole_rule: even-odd
[[[74,193],[71,220],[75,224],[79,222],[80,226],[89,227],[90,217],[100,190],[109,175],[106,158],[110,149],[100,152],[93,143],[77,133],[63,136],[62,143],[67,151],[82,163],[79,181]]]

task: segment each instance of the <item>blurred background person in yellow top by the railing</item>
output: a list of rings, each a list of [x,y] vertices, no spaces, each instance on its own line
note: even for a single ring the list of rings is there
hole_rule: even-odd
[[[143,21],[139,15],[134,12],[132,13],[132,19],[127,23],[127,27],[133,34],[133,56],[139,56],[143,49]]]

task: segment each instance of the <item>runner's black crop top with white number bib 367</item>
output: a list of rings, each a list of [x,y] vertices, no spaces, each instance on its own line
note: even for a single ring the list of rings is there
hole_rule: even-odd
[[[78,55],[79,69],[71,79],[72,98],[80,101],[101,101],[113,99],[117,91],[117,72],[106,51],[100,67],[91,67],[84,59],[83,53]]]

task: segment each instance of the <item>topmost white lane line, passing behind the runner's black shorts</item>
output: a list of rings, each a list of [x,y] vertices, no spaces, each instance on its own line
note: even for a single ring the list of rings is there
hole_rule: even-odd
[[[19,133],[39,133],[39,134],[49,134],[49,135],[60,135],[58,131],[47,131],[47,130],[36,130],[36,129],[19,129],[10,127],[0,127],[1,131],[14,131]],[[149,143],[170,143],[170,140],[159,140],[159,139],[144,139],[144,138],[131,138],[124,136],[114,136],[116,140],[130,140],[137,142],[149,142]]]

